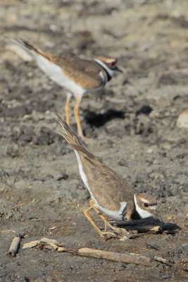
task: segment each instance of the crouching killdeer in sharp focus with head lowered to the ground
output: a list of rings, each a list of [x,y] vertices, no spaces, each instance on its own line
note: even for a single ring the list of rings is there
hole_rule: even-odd
[[[104,215],[110,216],[111,219],[115,220],[144,219],[152,216],[162,221],[161,216],[156,211],[157,204],[153,196],[134,192],[126,180],[97,159],[92,152],[89,152],[82,145],[73,129],[59,115],[58,122],[65,132],[58,131],[58,133],[73,147],[77,157],[80,176],[92,197],[90,207],[84,210],[84,214],[99,232],[99,235],[103,236],[107,233],[106,226],[115,231],[121,231],[120,228],[111,226]],[[104,221],[105,231],[101,231],[91,216],[89,216],[90,209],[95,209],[99,213]]]

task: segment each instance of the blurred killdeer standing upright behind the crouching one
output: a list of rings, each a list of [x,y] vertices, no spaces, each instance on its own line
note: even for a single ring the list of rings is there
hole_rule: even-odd
[[[75,97],[74,114],[77,122],[78,135],[87,141],[82,133],[79,118],[79,106],[83,94],[101,90],[106,82],[111,80],[114,71],[120,71],[116,66],[117,60],[108,56],[98,56],[96,59],[85,60],[73,56],[56,56],[32,46],[30,43],[22,43],[11,39],[11,42],[25,49],[37,62],[39,68],[46,75],[67,90],[65,104],[66,122],[70,124],[70,98]],[[120,71],[122,72],[122,71]]]

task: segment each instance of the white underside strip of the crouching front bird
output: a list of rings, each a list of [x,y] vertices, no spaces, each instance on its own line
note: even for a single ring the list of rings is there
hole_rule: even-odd
[[[78,154],[78,152],[76,150],[75,151],[75,154],[76,154],[76,157],[77,157],[77,162],[78,162],[78,167],[79,167],[79,171],[80,171],[80,176],[82,177],[82,180],[84,182],[84,185],[86,185],[87,189],[89,190],[89,193],[92,197],[92,200],[94,200],[95,202],[95,207],[97,207],[98,209],[100,209],[100,211],[103,213],[103,214],[106,214],[107,216],[110,216],[112,219],[116,219],[116,220],[121,220],[123,219],[123,211],[127,205],[127,202],[121,202],[120,203],[120,209],[119,210],[115,210],[115,211],[111,211],[110,209],[105,209],[104,207],[101,207],[98,202],[96,201],[90,187],[89,187],[89,184],[88,184],[88,181],[87,181],[87,176],[85,175],[84,171],[83,171],[83,168],[82,168],[82,163],[80,161],[80,156]]]

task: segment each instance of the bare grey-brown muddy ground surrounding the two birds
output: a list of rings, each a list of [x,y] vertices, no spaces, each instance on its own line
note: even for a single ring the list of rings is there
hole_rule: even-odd
[[[1,281],[187,281],[188,2],[0,1]],[[35,62],[8,47],[8,35],[54,54],[118,58],[118,73],[80,106],[89,149],[138,191],[158,200],[175,232],[103,242],[84,217],[89,192],[73,149],[56,132],[65,92]],[[71,102],[73,109],[74,101]],[[71,124],[75,118],[71,111]],[[101,188],[102,189],[102,188]],[[103,224],[95,214],[97,224]],[[25,237],[7,255],[16,233]],[[168,264],[136,266],[77,257],[23,243],[56,238],[66,247],[158,255]]]

